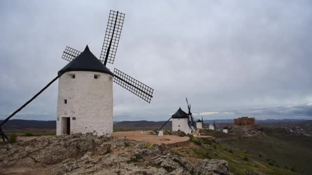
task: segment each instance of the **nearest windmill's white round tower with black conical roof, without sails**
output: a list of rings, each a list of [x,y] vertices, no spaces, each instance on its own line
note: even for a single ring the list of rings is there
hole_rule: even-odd
[[[113,132],[113,73],[86,49],[58,74],[56,135]]]

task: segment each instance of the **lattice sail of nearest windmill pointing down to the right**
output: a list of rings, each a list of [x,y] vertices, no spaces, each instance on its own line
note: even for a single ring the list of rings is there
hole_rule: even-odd
[[[153,89],[116,68],[114,69],[113,81],[148,103],[150,103],[150,100],[153,97]]]

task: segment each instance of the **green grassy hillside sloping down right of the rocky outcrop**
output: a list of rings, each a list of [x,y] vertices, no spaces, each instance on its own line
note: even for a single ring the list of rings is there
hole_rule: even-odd
[[[205,134],[225,140],[206,141],[190,137],[188,152],[201,159],[224,159],[235,174],[310,174],[312,138],[289,135],[283,128],[263,127],[255,137],[233,137],[206,130]]]

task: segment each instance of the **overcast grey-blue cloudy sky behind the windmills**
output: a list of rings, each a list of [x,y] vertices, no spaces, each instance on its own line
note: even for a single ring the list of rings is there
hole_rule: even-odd
[[[312,119],[310,1],[0,1],[0,119],[68,62],[97,57],[109,10],[125,13],[114,64],[154,89],[151,103],[114,84],[114,120]],[[55,120],[57,81],[15,119]]]

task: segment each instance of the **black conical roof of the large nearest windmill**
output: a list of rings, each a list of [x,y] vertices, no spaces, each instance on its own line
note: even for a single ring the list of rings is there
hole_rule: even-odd
[[[105,65],[91,53],[88,45],[80,55],[65,65],[65,67],[57,72],[57,74],[69,71],[91,71],[113,75],[113,73],[110,72],[110,70],[107,69]]]

